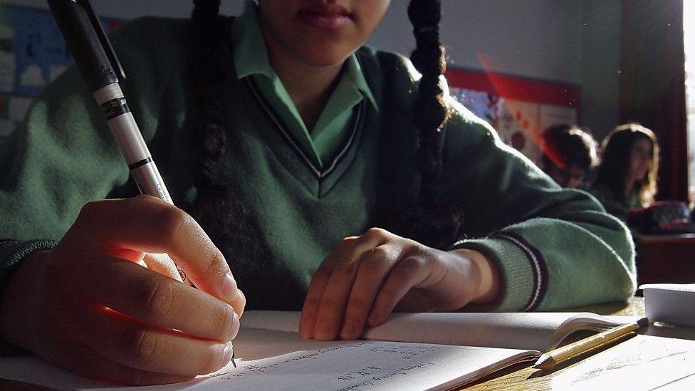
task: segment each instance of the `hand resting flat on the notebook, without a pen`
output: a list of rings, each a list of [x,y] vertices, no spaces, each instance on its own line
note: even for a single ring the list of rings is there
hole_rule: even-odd
[[[401,311],[458,310],[497,296],[495,266],[472,250],[440,251],[383,229],[343,239],[316,271],[302,309],[304,338],[360,338]]]

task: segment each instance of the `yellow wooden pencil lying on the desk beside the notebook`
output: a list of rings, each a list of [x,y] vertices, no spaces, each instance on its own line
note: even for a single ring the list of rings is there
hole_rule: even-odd
[[[543,353],[543,355],[538,358],[538,361],[535,362],[533,367],[543,370],[553,369],[555,365],[558,365],[565,360],[576,357],[594,348],[598,348],[600,345],[603,345],[611,340],[615,340],[624,335],[632,333],[634,330],[637,330],[642,325],[646,325],[647,323],[647,318],[641,318],[636,322],[627,323],[627,325],[620,325],[602,333],[598,333],[582,340],[578,340],[577,342],[570,343],[562,348],[550,350],[548,353]]]

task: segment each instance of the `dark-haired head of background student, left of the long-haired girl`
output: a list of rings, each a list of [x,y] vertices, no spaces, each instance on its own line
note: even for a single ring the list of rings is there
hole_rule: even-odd
[[[594,137],[576,125],[548,127],[542,150],[543,171],[562,187],[579,187],[598,164]]]

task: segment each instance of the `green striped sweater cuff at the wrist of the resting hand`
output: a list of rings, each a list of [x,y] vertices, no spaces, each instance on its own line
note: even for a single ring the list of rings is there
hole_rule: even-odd
[[[496,264],[503,289],[495,303],[484,306],[486,310],[516,312],[538,308],[548,287],[548,267],[540,251],[521,236],[503,232],[484,239],[466,239],[449,250],[455,249],[479,251]]]

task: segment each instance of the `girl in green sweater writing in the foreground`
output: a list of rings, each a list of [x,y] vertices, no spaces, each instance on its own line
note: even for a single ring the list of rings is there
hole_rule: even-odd
[[[362,46],[388,0],[247,1],[236,19],[219,0],[194,3],[192,21],[140,19],[113,36],[132,113],[185,212],[132,197],[75,69],[0,146],[8,346],[155,384],[229,363],[245,306],[301,309],[301,335],[331,340],[394,309],[632,295],[625,226],[448,97],[439,1],[411,3],[412,62]]]

